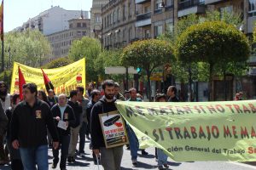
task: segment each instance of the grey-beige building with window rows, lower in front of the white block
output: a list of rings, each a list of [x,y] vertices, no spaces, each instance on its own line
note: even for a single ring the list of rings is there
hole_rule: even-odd
[[[49,34],[47,39],[52,48],[50,60],[66,57],[74,40],[90,37],[90,19],[68,20],[68,29]]]

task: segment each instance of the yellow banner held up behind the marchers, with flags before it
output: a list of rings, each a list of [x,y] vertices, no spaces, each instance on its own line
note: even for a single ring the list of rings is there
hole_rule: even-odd
[[[32,68],[20,63],[14,63],[12,81],[10,93],[19,93],[19,74],[18,66],[26,80],[28,82],[34,82],[37,84],[38,89],[44,89],[44,77],[41,69]],[[49,77],[49,81],[52,82],[55,88],[55,94],[69,94],[77,86],[85,88],[85,59],[80,59],[71,65],[55,69],[43,69],[44,73]]]

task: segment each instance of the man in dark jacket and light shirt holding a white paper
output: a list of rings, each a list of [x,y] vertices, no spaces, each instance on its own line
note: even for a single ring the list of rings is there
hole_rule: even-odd
[[[58,104],[51,108],[53,118],[55,119],[55,125],[60,136],[60,147],[53,150],[53,164],[52,168],[57,167],[59,161],[59,150],[61,149],[61,170],[66,170],[68,146],[70,142],[70,127],[74,127],[76,124],[75,116],[71,106],[67,105],[66,94],[60,94],[58,98]]]

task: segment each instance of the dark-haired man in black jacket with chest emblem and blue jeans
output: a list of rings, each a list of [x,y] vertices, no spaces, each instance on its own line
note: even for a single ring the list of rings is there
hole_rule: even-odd
[[[24,169],[47,170],[47,129],[53,138],[53,148],[58,147],[58,135],[49,110],[49,105],[37,99],[38,89],[34,83],[23,85],[24,101],[14,110],[11,120],[11,141],[15,149],[20,148]]]

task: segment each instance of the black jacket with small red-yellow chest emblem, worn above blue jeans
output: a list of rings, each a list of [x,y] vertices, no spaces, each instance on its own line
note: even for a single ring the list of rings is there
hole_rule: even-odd
[[[18,139],[20,147],[37,147],[47,144],[47,128],[53,141],[59,141],[49,105],[39,99],[31,107],[20,102],[11,119],[11,141]]]

